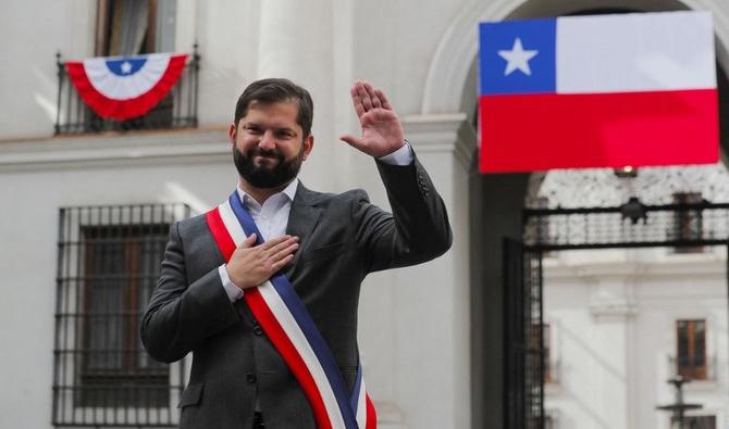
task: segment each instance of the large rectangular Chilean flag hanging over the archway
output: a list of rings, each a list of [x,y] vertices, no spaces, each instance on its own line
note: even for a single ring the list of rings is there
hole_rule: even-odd
[[[718,161],[712,15],[482,23],[480,169]]]

